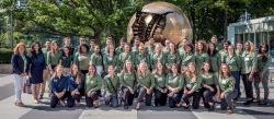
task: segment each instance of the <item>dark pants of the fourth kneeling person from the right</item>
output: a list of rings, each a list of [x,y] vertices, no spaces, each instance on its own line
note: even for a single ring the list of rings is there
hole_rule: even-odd
[[[176,104],[181,102],[183,95],[183,91],[180,91],[173,95],[169,95],[169,107],[174,108],[176,107]]]

